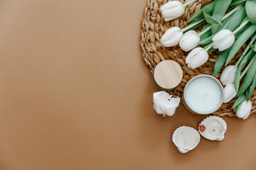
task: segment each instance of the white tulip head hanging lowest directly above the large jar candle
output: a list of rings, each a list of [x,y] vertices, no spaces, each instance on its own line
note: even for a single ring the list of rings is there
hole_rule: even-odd
[[[202,47],[196,47],[186,57],[186,64],[188,68],[196,69],[197,67],[205,64],[208,60],[208,52]]]

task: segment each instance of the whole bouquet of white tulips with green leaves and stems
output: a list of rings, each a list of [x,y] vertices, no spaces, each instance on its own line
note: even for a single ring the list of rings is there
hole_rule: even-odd
[[[184,7],[197,0],[182,4],[169,1],[161,6],[165,21],[184,13]],[[186,28],[172,27],[164,33],[161,44],[179,45],[190,51],[186,57],[188,68],[196,69],[208,61],[208,53],[220,51],[213,76],[225,65],[220,81],[225,86],[224,103],[238,98],[233,108],[239,118],[250,115],[250,97],[256,87],[256,0],[215,0],[207,4],[187,21]],[[204,24],[201,32],[193,30]],[[242,45],[250,41],[235,65],[228,65]],[[244,78],[244,79],[243,79]]]

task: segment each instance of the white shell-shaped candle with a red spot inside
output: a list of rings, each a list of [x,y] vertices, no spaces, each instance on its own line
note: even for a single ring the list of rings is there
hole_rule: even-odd
[[[198,127],[200,134],[208,140],[223,140],[227,124],[223,118],[211,115],[205,118]]]

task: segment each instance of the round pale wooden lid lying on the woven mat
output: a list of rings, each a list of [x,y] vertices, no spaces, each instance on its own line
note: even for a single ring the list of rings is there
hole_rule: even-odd
[[[181,83],[182,77],[181,66],[171,60],[159,62],[153,72],[154,83],[162,90],[175,89]]]

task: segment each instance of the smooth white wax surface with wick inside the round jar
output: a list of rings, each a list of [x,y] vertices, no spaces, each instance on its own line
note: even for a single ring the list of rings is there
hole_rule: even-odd
[[[212,113],[221,102],[221,89],[213,79],[199,77],[186,86],[185,98],[193,111]]]

